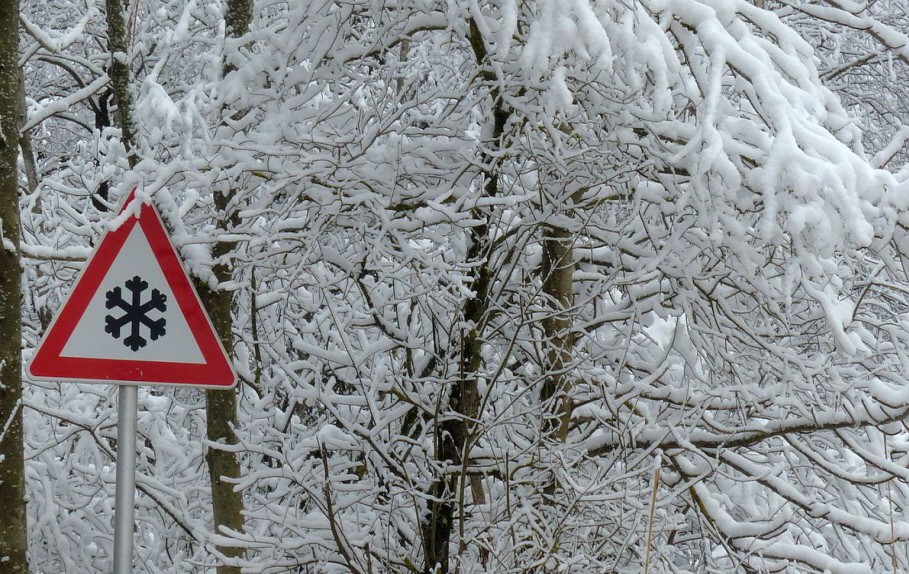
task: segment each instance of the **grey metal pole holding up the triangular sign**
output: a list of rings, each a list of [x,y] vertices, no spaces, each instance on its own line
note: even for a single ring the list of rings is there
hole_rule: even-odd
[[[133,571],[133,511],[136,506],[136,416],[139,388],[120,386],[117,405],[117,496],[114,507],[114,574]]]

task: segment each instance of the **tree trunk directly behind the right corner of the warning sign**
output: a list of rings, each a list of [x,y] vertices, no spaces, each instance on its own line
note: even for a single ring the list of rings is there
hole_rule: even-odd
[[[249,32],[252,22],[251,0],[228,0],[224,14],[225,33],[227,38],[240,38]],[[224,75],[233,70],[225,51]],[[217,227],[226,231],[237,223],[236,209],[231,205],[233,193],[215,191],[214,203],[218,214]],[[225,262],[225,257],[231,252],[233,245],[225,242],[215,243],[212,257],[215,261],[212,270],[219,285],[233,278],[230,266]],[[233,356],[233,331],[232,310],[233,294],[218,287],[214,290],[207,286],[200,289],[202,301],[211,315],[212,323],[228,357]],[[212,445],[235,445],[237,435],[234,429],[237,426],[237,391],[207,390],[206,420],[208,440]],[[208,462],[209,478],[211,480],[212,514],[215,532],[222,534],[222,529],[235,532],[243,531],[243,493],[234,490],[233,481],[240,477],[240,462],[237,453],[210,447],[206,455]],[[243,555],[242,548],[218,546],[218,551],[229,558],[239,558]],[[239,574],[240,568],[236,566],[218,566],[218,574]]]

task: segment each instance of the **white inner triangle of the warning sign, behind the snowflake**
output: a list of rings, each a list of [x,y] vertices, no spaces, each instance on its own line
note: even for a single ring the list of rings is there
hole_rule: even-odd
[[[138,225],[130,232],[60,356],[205,362]]]

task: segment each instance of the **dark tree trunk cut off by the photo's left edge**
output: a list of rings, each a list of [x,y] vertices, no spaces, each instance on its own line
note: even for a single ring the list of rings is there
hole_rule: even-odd
[[[19,260],[19,2],[0,0],[0,564],[28,572]]]

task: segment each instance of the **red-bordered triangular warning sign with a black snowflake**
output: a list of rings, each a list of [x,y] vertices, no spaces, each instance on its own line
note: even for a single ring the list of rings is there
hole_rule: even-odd
[[[234,386],[236,374],[161,216],[151,204],[138,211],[101,237],[28,374],[52,381]]]

